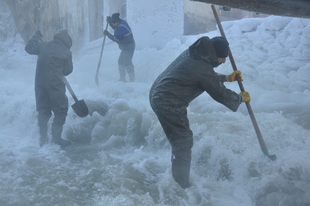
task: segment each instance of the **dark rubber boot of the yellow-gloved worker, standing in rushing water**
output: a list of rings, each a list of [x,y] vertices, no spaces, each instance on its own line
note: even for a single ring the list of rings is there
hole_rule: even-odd
[[[191,164],[179,163],[176,162],[175,159],[172,160],[172,177],[175,179],[177,183],[183,188],[186,189],[190,187],[189,184],[189,170],[191,168]]]

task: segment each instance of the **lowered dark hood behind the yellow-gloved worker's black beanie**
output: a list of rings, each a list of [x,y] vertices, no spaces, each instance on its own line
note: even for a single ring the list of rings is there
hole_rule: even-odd
[[[214,46],[209,37],[201,37],[197,39],[190,47],[188,47],[189,52],[193,58],[198,60],[204,60],[210,65],[216,64],[216,53]]]

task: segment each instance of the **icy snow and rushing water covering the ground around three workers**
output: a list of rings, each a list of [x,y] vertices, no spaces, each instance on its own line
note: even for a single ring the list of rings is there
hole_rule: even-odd
[[[135,83],[114,82],[120,51],[104,51],[100,87],[94,77],[102,39],[88,45],[67,79],[92,116],[69,108],[63,136],[73,146],[64,150],[39,147],[36,56],[9,32],[0,42],[0,205],[309,205],[310,20],[271,16],[223,27],[276,161],[263,156],[244,104],[234,113],[204,93],[188,107],[193,186],[183,190],[171,176],[171,148],[148,92],[197,38],[219,31],[135,51]],[[216,71],[230,73],[229,61]]]

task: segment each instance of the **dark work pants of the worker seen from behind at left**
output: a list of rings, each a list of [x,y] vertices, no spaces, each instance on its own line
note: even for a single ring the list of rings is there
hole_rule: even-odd
[[[68,114],[68,97],[66,96],[65,84],[52,82],[51,84],[36,83],[35,95],[38,112],[38,126],[45,127],[54,113],[53,124],[64,125]]]

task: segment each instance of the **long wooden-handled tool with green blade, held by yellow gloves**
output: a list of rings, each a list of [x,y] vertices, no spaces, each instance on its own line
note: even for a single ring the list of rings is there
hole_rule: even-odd
[[[215,10],[215,6],[212,4],[211,5],[211,8],[212,8],[212,11],[214,13],[214,16],[215,16],[215,20],[217,22],[217,25],[219,26],[219,31],[222,35],[222,37],[226,38],[225,34],[224,34],[224,30],[223,30],[223,27],[222,27],[222,24],[221,24],[221,21],[219,20],[219,16],[217,15],[217,12]],[[233,59],[232,57],[232,52],[230,51],[229,49],[229,53],[228,53],[228,56],[229,56],[229,60],[232,64],[232,69],[234,71],[237,70],[237,66],[235,64],[235,60]],[[240,87],[240,90],[241,92],[244,92],[244,87],[241,83],[241,80],[239,78],[239,75],[236,75],[236,78],[237,78],[237,81],[238,81],[238,84],[239,84],[239,87]],[[256,119],[255,119],[255,116],[254,116],[254,113],[252,111],[252,108],[251,108],[251,105],[250,105],[250,102],[245,102],[246,103],[246,108],[248,109],[248,112],[250,114],[250,118],[252,120],[252,123],[253,123],[253,126],[254,126],[254,129],[255,129],[255,132],[256,132],[256,135],[257,135],[257,139],[259,141],[259,145],[260,145],[260,148],[262,149],[264,155],[268,156],[271,160],[275,160],[276,159],[276,155],[269,155],[268,153],[268,150],[267,150],[267,147],[265,145],[265,142],[264,142],[264,139],[263,139],[263,136],[262,136],[262,133],[260,132],[259,130],[259,127],[258,127],[258,124],[256,122]]]

